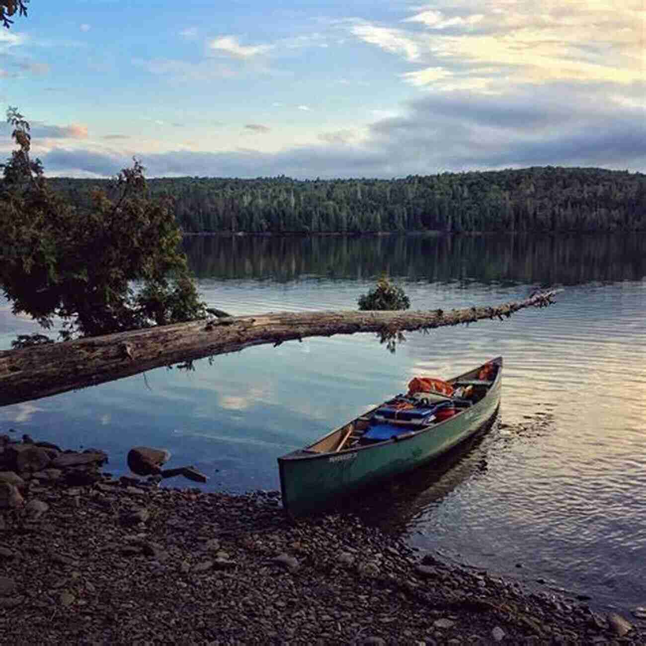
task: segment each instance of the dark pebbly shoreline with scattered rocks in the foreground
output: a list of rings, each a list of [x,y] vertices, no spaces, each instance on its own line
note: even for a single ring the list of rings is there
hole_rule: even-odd
[[[0,436],[0,634],[32,644],[644,644],[640,618],[437,561],[278,492],[113,479]]]

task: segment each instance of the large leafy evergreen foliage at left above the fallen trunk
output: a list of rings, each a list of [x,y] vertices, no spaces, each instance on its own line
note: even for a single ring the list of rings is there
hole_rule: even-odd
[[[45,328],[63,319],[63,337],[94,336],[205,316],[179,245],[169,198],[149,197],[138,161],[94,189],[87,208],[50,188],[29,157],[29,125],[8,111],[19,149],[2,165],[0,285],[14,313]]]

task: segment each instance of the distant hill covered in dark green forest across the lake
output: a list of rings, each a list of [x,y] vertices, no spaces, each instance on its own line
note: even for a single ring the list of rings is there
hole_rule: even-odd
[[[79,208],[107,180],[52,178]],[[646,175],[598,168],[409,176],[400,180],[149,180],[187,232],[646,230]]]

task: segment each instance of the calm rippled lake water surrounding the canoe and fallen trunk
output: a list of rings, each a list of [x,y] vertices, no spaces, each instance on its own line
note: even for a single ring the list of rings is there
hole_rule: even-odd
[[[356,309],[387,270],[413,309],[524,298],[512,318],[260,346],[0,408],[0,432],[96,446],[126,473],[131,446],[169,448],[209,490],[278,488],[275,459],[406,389],[505,358],[499,417],[477,442],[370,494],[359,513],[448,559],[646,605],[646,235],[185,240],[205,300],[229,313]],[[0,304],[0,344],[35,331]],[[185,482],[172,483],[183,485]],[[189,483],[192,485],[192,483]],[[517,567],[521,565],[522,567]]]

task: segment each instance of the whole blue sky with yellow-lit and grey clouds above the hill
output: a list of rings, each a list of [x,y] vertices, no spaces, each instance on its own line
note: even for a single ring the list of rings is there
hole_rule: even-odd
[[[31,0],[0,99],[50,176],[645,172],[645,38],[645,0]]]

